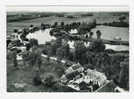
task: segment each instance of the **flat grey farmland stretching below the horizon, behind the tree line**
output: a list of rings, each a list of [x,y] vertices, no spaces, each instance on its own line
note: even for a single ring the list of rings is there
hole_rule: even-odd
[[[16,15],[16,13],[15,12],[7,13],[7,33],[12,33],[14,28],[20,29],[20,28],[24,28],[24,27],[30,26],[31,24],[33,24],[35,26],[39,26],[41,23],[53,24],[54,22],[59,22],[60,23],[62,21],[66,24],[66,23],[71,23],[71,22],[92,22],[93,19],[96,19],[97,24],[102,24],[102,23],[118,21],[118,18],[122,15],[122,13],[120,15],[116,15],[116,14],[111,12],[111,13],[108,13],[108,14],[107,13],[106,14],[94,13],[94,16],[81,17],[81,14],[79,14],[79,13],[73,13],[73,14],[71,13],[71,15],[77,15],[79,17],[67,18],[67,17],[57,17],[57,16],[54,16],[55,13],[52,14],[52,15],[49,15],[49,17],[36,17],[38,15],[38,13],[36,13],[35,17],[33,19],[33,18],[31,18],[33,13],[30,13],[30,14],[28,13],[28,19],[27,20],[19,21],[19,19],[18,19],[18,21],[10,22],[9,21],[10,18],[8,16],[10,16],[12,18],[12,17],[14,17],[13,15],[19,16],[21,14],[24,14],[24,13],[20,13],[20,14],[17,13],[17,15]],[[123,15],[126,16],[126,20],[125,21],[128,23],[129,20],[128,20],[127,14],[123,13]],[[21,17],[23,17],[23,16],[21,16]]]

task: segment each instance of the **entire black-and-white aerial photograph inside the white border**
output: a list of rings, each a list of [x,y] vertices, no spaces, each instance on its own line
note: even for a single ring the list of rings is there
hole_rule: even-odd
[[[7,92],[129,92],[129,10],[88,9],[7,6]]]

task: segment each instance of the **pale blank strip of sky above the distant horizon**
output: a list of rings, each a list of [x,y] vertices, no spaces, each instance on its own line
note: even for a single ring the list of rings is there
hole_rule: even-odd
[[[127,6],[28,6],[8,5],[7,12],[128,12]]]

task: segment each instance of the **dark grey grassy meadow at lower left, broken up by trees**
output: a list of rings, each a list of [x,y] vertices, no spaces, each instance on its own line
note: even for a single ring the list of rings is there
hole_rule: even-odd
[[[11,60],[7,60],[7,91],[8,92],[53,92],[54,90],[51,88],[47,88],[43,85],[35,86],[33,84],[33,77],[35,77],[36,66],[26,65],[24,66],[22,62],[19,62],[19,69],[15,69]],[[61,71],[65,70],[65,66],[56,63],[56,62],[48,62],[45,59],[43,60],[41,73],[47,74],[52,73],[58,79],[61,77]],[[26,86],[24,88],[15,88],[15,83],[25,83]]]

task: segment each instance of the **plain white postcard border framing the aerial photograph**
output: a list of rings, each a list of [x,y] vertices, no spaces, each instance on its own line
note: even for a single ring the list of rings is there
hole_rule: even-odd
[[[130,91],[127,93],[41,93],[41,92],[20,92],[20,93],[8,93],[6,91],[6,11],[7,6],[43,6],[49,5],[53,6],[85,6],[90,8],[91,11],[111,11],[114,10],[113,7],[118,11],[128,10],[130,13]],[[110,8],[111,7],[111,8]],[[124,9],[125,8],[125,9]],[[58,8],[57,8],[58,9]],[[73,8],[75,9],[75,8]],[[82,7],[83,10],[83,7]],[[89,11],[90,11],[89,10]],[[103,98],[103,99],[113,99],[113,98],[132,98],[134,96],[134,2],[133,0],[1,0],[0,1],[0,98],[1,99],[88,99],[88,98]]]

